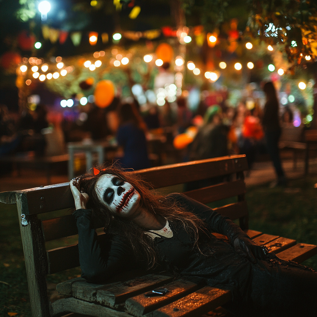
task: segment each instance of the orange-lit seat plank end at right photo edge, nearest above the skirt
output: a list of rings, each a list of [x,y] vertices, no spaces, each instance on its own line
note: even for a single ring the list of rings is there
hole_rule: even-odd
[[[304,262],[310,257],[317,254],[317,246],[314,244],[298,243],[280,253],[277,256],[286,261],[294,261],[297,263]]]

